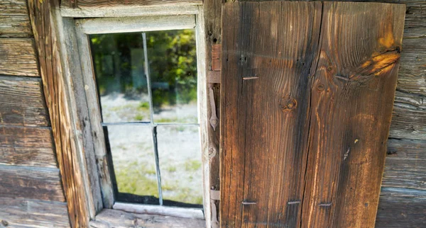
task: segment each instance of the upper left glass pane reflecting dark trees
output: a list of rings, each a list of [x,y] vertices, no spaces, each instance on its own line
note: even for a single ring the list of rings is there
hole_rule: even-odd
[[[90,35],[104,122],[150,121],[141,33]]]

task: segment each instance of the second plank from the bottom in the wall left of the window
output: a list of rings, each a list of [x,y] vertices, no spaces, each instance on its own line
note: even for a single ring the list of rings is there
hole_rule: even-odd
[[[59,169],[0,165],[1,197],[65,202]]]

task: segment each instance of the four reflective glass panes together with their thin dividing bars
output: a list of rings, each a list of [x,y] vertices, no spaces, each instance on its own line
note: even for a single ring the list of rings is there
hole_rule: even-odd
[[[194,30],[89,38],[116,200],[201,207]]]

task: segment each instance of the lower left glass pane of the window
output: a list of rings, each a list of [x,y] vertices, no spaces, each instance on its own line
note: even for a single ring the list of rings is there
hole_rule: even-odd
[[[119,193],[117,199],[158,204],[151,127],[111,125],[105,128]]]

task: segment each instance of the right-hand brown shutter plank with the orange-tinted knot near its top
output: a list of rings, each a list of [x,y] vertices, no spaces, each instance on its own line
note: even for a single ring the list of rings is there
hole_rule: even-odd
[[[324,2],[323,12],[302,218],[306,227],[373,227],[405,6]]]

